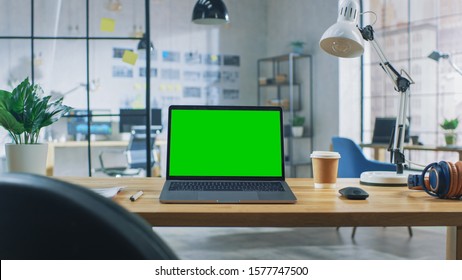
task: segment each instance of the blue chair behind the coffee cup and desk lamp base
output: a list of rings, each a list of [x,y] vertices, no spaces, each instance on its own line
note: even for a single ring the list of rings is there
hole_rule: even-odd
[[[396,171],[396,166],[392,163],[367,159],[361,147],[349,138],[332,137],[332,147],[341,156],[338,164],[339,178],[359,178],[364,171]],[[412,228],[408,227],[408,231],[412,237]],[[353,227],[351,238],[355,234],[356,227]]]

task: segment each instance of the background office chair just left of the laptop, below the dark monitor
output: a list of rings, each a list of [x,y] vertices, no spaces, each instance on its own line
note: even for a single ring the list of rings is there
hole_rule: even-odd
[[[151,130],[151,168],[158,161],[157,153],[154,150],[154,143],[158,130]],[[120,150],[104,150],[99,154],[99,162],[102,171],[112,177],[129,177],[140,175],[146,168],[146,128],[135,127],[130,134],[130,141],[127,149],[123,152],[125,161],[123,166],[117,164],[120,160],[115,160],[120,157]],[[115,166],[114,166],[115,163]]]

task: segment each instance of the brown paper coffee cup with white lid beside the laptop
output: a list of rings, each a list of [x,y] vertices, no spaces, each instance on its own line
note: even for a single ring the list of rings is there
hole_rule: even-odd
[[[310,157],[313,166],[314,187],[335,187],[340,154],[329,151],[313,151]]]

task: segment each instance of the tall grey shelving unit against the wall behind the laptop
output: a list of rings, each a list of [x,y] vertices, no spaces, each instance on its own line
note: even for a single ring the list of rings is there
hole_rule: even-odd
[[[284,110],[284,165],[290,167],[290,177],[296,177],[296,167],[311,165],[309,158],[290,159],[297,158],[302,150],[307,150],[307,154],[313,150],[312,71],[311,56],[304,54],[290,53],[257,62],[258,105],[280,106]],[[301,137],[292,136],[291,121],[296,112],[306,120]]]

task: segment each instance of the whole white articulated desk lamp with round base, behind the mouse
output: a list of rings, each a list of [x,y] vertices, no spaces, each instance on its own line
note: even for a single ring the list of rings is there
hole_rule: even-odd
[[[396,172],[368,171],[361,174],[360,181],[370,185],[407,185],[407,175],[403,174],[405,157],[403,153],[406,113],[409,100],[409,86],[414,82],[409,75],[401,70],[400,73],[388,62],[385,54],[374,39],[371,25],[358,27],[360,14],[358,0],[340,0],[337,22],[324,32],[321,48],[338,57],[358,57],[364,52],[363,40],[369,41],[377,52],[381,61],[380,66],[392,80],[395,90],[400,94],[400,105],[393,136],[393,147],[390,147],[391,162],[396,165]],[[370,12],[373,13],[373,12]],[[403,74],[405,77],[403,77]]]

